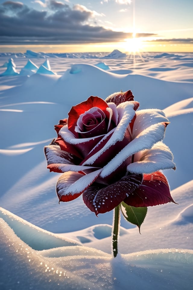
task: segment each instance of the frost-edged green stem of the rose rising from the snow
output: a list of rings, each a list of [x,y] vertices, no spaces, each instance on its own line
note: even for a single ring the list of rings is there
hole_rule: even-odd
[[[114,208],[113,211],[112,254],[114,258],[117,256],[118,253],[119,225],[120,225],[120,205]]]

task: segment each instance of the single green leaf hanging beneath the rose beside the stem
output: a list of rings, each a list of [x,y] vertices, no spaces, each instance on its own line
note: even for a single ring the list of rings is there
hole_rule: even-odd
[[[125,202],[122,201],[121,211],[122,211],[124,218],[128,222],[138,226],[139,233],[140,233],[141,224],[143,223],[143,221],[146,217],[146,214],[147,214],[147,207],[135,208],[134,206],[127,205]]]

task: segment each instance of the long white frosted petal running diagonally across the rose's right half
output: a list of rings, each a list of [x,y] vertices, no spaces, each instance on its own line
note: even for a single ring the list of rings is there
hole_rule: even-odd
[[[106,166],[101,177],[105,178],[117,169],[129,156],[141,150],[150,149],[153,144],[163,140],[166,129],[165,123],[154,124],[142,131],[134,140],[125,146]]]

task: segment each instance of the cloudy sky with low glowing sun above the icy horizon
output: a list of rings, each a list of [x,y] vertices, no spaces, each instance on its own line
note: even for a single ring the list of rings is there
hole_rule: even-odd
[[[193,52],[192,0],[0,0],[0,52]]]

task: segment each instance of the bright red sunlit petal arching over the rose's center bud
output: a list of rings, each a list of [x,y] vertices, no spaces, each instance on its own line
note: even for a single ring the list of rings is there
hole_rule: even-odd
[[[108,108],[107,103],[99,97],[90,96],[87,101],[84,101],[71,108],[70,112],[68,113],[68,130],[74,134],[79,116],[93,107],[100,108],[102,111],[104,111],[105,114],[107,113],[109,116],[109,113],[106,111],[106,108]]]

